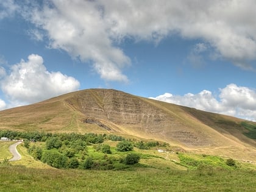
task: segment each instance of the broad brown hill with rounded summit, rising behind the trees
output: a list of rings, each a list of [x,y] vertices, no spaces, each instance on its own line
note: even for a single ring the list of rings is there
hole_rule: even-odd
[[[76,91],[0,112],[0,129],[115,133],[165,141],[188,151],[254,160],[256,123],[244,122],[106,89]]]

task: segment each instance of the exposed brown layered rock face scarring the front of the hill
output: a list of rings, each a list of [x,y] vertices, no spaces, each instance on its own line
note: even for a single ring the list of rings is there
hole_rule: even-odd
[[[174,118],[175,114],[166,113],[161,108],[155,107],[143,99],[122,91],[116,90],[90,90],[69,98],[68,103],[77,103],[80,112],[87,118],[85,123],[98,124],[98,126],[110,130],[110,127],[101,123],[101,119],[122,126],[137,129],[141,132],[154,134],[161,138],[172,138],[181,141],[187,146],[202,146],[212,144],[208,136],[197,137],[197,130],[193,127],[185,127],[184,124]]]

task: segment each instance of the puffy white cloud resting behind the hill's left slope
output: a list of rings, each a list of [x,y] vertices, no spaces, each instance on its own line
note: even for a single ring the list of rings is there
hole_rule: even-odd
[[[12,65],[10,74],[1,80],[1,88],[13,105],[30,104],[59,94],[78,90],[74,77],[49,72],[40,55],[31,54],[28,60]]]

